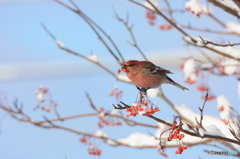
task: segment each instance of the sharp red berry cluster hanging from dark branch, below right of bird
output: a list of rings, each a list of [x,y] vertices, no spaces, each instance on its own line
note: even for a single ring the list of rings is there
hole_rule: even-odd
[[[176,119],[179,119],[179,124],[177,125]],[[183,144],[182,139],[184,138],[184,134],[181,134],[181,128],[182,128],[182,121],[179,116],[176,116],[173,121],[173,125],[171,127],[171,131],[169,133],[168,141],[172,141],[172,139],[178,140],[178,149],[175,151],[175,154],[182,154],[183,150],[187,149],[187,146]]]

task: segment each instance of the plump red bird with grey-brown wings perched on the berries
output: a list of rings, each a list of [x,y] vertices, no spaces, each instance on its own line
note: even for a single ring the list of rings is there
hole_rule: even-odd
[[[182,90],[188,90],[167,76],[172,72],[154,65],[150,61],[129,60],[122,65],[121,70],[126,72],[132,83],[137,87],[141,87],[144,92],[151,88],[158,88],[163,83],[172,84]]]

